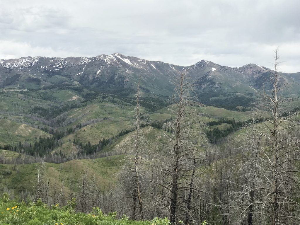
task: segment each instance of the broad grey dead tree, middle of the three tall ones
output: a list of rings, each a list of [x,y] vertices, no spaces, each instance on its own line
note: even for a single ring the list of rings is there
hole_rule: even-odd
[[[174,84],[175,94],[170,107],[174,119],[165,123],[164,129],[171,132],[164,133],[166,144],[161,143],[160,153],[153,159],[158,171],[153,184],[160,186],[159,189],[164,192],[163,195],[156,193],[158,199],[162,199],[159,203],[162,214],[168,214],[172,224],[181,219],[186,224],[192,224],[197,217],[192,212],[198,212],[192,201],[194,195],[201,191],[195,185],[199,183],[196,162],[204,158],[199,148],[206,142],[205,135],[199,129],[198,117],[198,109],[203,105],[190,96],[194,80],[188,76],[188,70],[180,72]]]

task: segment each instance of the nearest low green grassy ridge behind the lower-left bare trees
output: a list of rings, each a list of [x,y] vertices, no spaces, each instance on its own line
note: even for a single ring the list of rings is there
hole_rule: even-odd
[[[0,151],[2,152],[0,154],[3,154],[3,150]],[[9,151],[5,154],[16,156],[13,155],[14,152]],[[97,158],[96,160],[71,160],[62,164],[45,163],[46,178],[49,179],[49,190],[53,190],[56,180],[57,185],[59,187],[63,185],[65,193],[68,193],[71,177],[80,182],[84,173],[87,173],[89,178],[95,176],[96,184],[100,190],[107,190],[110,182],[116,182],[114,178],[123,164],[122,159],[124,157],[124,155],[114,155]],[[36,163],[14,166],[1,164],[1,186],[15,190],[16,194],[26,190],[34,193],[37,186],[37,165]]]

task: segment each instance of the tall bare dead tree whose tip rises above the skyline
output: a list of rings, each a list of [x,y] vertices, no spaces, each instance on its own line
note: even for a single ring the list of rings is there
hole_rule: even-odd
[[[268,91],[264,86],[256,104],[259,110],[255,115],[264,122],[250,126],[249,158],[241,162],[239,173],[245,179],[235,193],[240,197],[234,206],[240,210],[239,224],[300,223],[299,112],[290,109],[292,98],[283,95],[287,84],[280,79],[278,59],[276,49],[274,71],[268,80],[272,88]]]

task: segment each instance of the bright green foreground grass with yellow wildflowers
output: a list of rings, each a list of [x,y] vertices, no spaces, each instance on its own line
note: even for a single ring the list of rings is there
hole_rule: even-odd
[[[5,199],[5,200],[3,200]],[[0,201],[0,221],[2,225],[150,225],[150,221],[132,221],[128,217],[117,220],[117,213],[103,214],[99,208],[89,209],[91,213],[76,212],[76,199],[67,206],[52,205],[48,207],[41,201],[16,202]],[[75,203],[75,204],[73,204]]]

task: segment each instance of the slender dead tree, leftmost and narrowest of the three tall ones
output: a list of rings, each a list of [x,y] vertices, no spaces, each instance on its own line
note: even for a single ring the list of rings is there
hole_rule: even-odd
[[[130,128],[132,132],[128,134],[128,139],[125,143],[120,146],[122,149],[128,149],[129,154],[125,158],[125,164],[119,174],[119,193],[121,194],[122,199],[124,199],[124,202],[127,202],[125,203],[123,210],[127,208],[127,214],[128,211],[131,211],[133,220],[137,219],[137,217],[140,219],[144,218],[143,192],[141,190],[143,173],[145,173],[145,170],[143,170],[143,160],[146,158],[147,149],[149,148],[149,143],[144,137],[143,130],[141,129],[141,124],[146,123],[142,118],[147,117],[147,115],[141,112],[140,109],[140,80],[137,85],[134,116]],[[125,199],[129,201],[125,201]],[[139,212],[137,212],[137,208]]]

